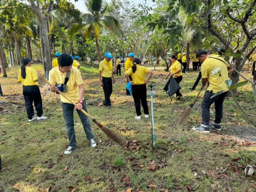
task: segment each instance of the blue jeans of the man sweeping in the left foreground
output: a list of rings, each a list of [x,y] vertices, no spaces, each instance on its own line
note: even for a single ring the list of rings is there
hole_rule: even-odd
[[[69,146],[76,147],[76,134],[75,134],[75,128],[74,128],[74,108],[75,106],[71,103],[62,103],[62,111],[63,116],[65,119],[65,124],[67,128],[67,136],[69,137]],[[82,109],[87,112],[86,103],[84,100],[84,104]],[[81,112],[81,110],[76,110],[78,112],[78,115],[82,121],[85,134],[87,135],[87,139],[91,140],[94,138],[94,134],[91,132],[91,124],[88,116],[86,116],[84,113]]]

